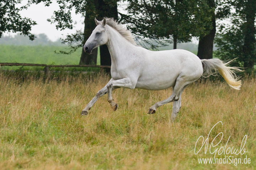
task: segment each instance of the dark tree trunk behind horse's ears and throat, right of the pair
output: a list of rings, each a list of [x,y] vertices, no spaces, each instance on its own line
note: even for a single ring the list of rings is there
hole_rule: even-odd
[[[103,17],[118,19],[117,1],[108,2],[106,0],[98,0],[97,5],[97,19],[99,21],[102,20]],[[107,45],[100,46],[100,61],[101,65],[111,66],[111,57]],[[105,68],[105,72],[110,73],[110,68]]]

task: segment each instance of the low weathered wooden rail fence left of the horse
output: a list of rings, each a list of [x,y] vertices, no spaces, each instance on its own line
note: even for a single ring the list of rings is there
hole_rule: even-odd
[[[0,63],[0,66],[38,66],[44,67],[44,72],[49,74],[49,67],[98,67],[101,68],[100,72],[103,71],[103,68],[111,68],[111,66],[97,66],[97,65],[47,65],[47,64],[30,64],[30,63]]]

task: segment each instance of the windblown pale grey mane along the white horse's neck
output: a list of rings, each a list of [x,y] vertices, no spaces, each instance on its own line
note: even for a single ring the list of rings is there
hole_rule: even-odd
[[[117,30],[117,32],[121,34],[123,38],[128,40],[130,43],[137,46],[136,42],[134,41],[134,36],[129,30],[127,30],[125,26],[123,26],[122,24],[118,24],[116,20],[114,20],[113,18],[105,18],[105,19],[106,19],[106,24],[108,24],[110,27]],[[100,23],[102,22],[103,20]]]

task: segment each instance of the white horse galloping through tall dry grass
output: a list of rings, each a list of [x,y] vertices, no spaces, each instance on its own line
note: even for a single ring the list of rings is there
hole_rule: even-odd
[[[82,110],[81,115],[88,114],[93,104],[108,93],[107,100],[114,111],[117,103],[113,101],[112,90],[119,87],[128,89],[163,90],[172,87],[169,98],[155,103],[148,114],[155,113],[163,104],[174,102],[171,119],[175,120],[181,108],[182,91],[202,75],[213,75],[218,72],[230,87],[239,90],[241,80],[236,78],[236,67],[226,67],[219,59],[200,60],[193,53],[176,49],[167,51],[150,51],[138,46],[132,34],[118,24],[113,18],[97,21],[97,27],[84,45],[87,53],[100,45],[106,44],[111,55],[111,80],[97,92],[95,97]]]

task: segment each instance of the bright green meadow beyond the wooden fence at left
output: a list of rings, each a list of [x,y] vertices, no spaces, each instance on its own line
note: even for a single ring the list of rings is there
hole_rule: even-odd
[[[82,49],[70,55],[55,53],[54,51],[68,51],[68,46],[16,46],[0,45],[0,63],[32,63],[53,65],[78,65]],[[97,65],[100,65],[100,51],[98,50]],[[3,67],[6,70],[16,70],[21,66]],[[42,70],[43,67],[23,67],[23,70]],[[67,68],[66,68],[67,69]],[[84,68],[73,68],[84,70]],[[71,70],[73,70],[71,69]],[[70,69],[67,69],[70,70]]]

